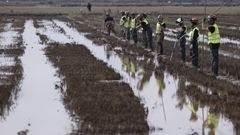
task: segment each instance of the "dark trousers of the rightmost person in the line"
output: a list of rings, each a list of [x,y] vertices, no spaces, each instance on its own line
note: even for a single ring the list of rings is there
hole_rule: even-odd
[[[210,44],[211,52],[212,52],[212,72],[214,75],[218,75],[218,65],[219,65],[219,51],[220,44]]]

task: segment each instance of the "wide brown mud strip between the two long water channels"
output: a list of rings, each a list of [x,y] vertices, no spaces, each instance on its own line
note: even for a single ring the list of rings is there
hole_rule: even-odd
[[[82,45],[51,44],[49,60],[64,79],[64,102],[79,123],[73,134],[147,134],[145,112],[120,75]],[[105,81],[110,81],[105,82]]]

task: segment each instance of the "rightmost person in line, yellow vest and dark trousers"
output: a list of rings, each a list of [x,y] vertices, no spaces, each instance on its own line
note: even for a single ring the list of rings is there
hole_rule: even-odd
[[[203,28],[203,30],[208,30],[208,45],[212,52],[212,72],[214,76],[218,76],[218,64],[219,64],[219,47],[221,42],[219,27],[216,23],[217,17],[215,15],[210,15],[207,17],[208,29]]]

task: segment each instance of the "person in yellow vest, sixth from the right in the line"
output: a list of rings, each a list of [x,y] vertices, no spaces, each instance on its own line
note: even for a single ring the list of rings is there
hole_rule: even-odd
[[[131,21],[130,21],[130,31],[132,35],[132,39],[135,44],[138,42],[138,37],[137,37],[137,17],[135,13],[132,13],[131,15]]]

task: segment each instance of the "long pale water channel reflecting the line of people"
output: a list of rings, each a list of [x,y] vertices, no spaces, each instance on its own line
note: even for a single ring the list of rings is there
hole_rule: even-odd
[[[159,76],[154,71],[147,70],[138,64],[137,59],[145,58],[136,58],[134,61],[124,54],[117,55],[111,49],[109,50],[108,46],[93,44],[92,41],[86,39],[83,34],[72,29],[65,22],[58,20],[53,22],[64,29],[65,33],[62,34],[70,37],[72,40],[70,42],[84,44],[96,58],[103,60],[109,67],[121,74],[123,81],[132,87],[134,94],[144,104],[150,127],[149,134],[189,135],[207,134],[210,131],[210,128],[204,124],[207,121],[210,108],[200,107],[197,104],[197,109],[193,109],[193,106],[196,106],[196,101],[186,95],[180,96],[181,92],[179,91],[181,91],[182,85],[188,84],[184,79],[173,77],[164,71]],[[47,36],[51,37],[52,35]],[[121,48],[115,49],[121,50]],[[214,128],[215,134],[233,135],[232,123],[223,115],[218,116],[219,123]]]

